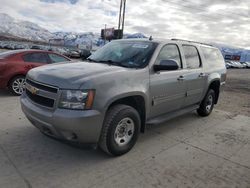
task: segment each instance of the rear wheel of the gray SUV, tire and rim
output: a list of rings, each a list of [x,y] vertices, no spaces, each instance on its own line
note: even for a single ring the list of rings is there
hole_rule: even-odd
[[[211,114],[215,103],[215,92],[213,89],[209,89],[206,96],[202,100],[200,107],[197,109],[197,113],[200,116],[208,116]]]

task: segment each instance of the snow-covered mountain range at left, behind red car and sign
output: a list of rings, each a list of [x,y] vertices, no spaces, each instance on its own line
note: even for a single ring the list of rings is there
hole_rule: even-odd
[[[65,45],[99,45],[99,33],[93,32],[50,32],[39,25],[17,20],[8,14],[0,13],[0,36],[13,36],[31,41],[49,42],[51,39],[63,39]],[[146,38],[142,33],[125,34],[124,38]]]

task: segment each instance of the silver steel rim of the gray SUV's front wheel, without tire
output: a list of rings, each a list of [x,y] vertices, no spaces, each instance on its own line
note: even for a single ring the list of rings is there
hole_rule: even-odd
[[[118,146],[124,146],[130,142],[134,135],[135,124],[134,121],[129,118],[123,118],[115,129],[115,142]]]

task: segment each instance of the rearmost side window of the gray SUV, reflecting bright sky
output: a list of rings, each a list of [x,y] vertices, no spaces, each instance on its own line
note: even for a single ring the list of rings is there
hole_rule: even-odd
[[[209,66],[218,66],[221,63],[223,64],[223,57],[218,49],[208,47],[202,47],[201,49]]]

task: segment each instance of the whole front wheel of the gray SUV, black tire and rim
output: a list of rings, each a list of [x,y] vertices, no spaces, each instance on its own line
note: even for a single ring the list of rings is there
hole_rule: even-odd
[[[106,114],[99,147],[113,156],[127,153],[137,141],[140,125],[139,113],[134,108],[120,104],[113,106]]]

